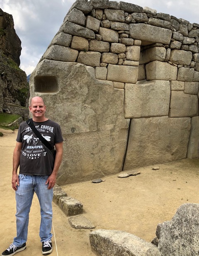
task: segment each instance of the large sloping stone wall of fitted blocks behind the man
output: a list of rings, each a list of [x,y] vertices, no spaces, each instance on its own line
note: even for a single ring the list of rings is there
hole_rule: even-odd
[[[77,0],[31,75],[64,135],[58,183],[199,156],[199,24]]]

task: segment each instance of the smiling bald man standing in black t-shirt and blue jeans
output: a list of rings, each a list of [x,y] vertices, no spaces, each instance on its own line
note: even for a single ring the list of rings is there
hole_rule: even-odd
[[[34,192],[41,207],[40,238],[42,254],[50,254],[52,247],[52,200],[53,186],[62,161],[63,138],[59,124],[45,117],[46,105],[41,97],[31,99],[29,110],[34,125],[53,147],[56,156],[36,137],[26,122],[20,124],[17,144],[13,154],[12,188],[16,191],[17,236],[13,243],[2,252],[2,256],[12,256],[26,249],[29,212]],[[17,169],[19,167],[19,176]]]

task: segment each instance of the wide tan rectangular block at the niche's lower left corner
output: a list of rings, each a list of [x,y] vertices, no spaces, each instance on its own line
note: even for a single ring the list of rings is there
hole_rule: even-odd
[[[107,80],[122,83],[136,83],[137,77],[138,67],[108,65]]]

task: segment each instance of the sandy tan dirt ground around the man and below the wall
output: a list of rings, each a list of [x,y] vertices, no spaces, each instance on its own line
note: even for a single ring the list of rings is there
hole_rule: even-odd
[[[11,175],[17,131],[3,130],[3,133],[4,136],[0,137],[0,252],[12,243],[16,235]],[[65,185],[62,189],[68,196],[82,202],[84,216],[96,229],[117,229],[151,241],[155,237],[157,224],[170,220],[180,205],[199,203],[199,159],[183,159],[158,166],[160,169],[156,171],[152,170],[154,166],[137,168],[141,171],[137,176],[117,178],[113,175],[105,177],[102,183],[88,181]],[[34,196],[27,248],[20,252],[21,256],[42,255],[39,225],[40,208]],[[89,244],[89,233],[92,231],[70,227],[68,217],[54,203],[53,228],[54,248],[50,255],[95,255]]]

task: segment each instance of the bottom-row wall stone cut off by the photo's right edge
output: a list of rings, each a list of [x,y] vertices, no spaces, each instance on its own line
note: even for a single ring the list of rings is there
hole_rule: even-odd
[[[187,157],[199,157],[199,117],[192,117],[191,119],[191,131],[189,137]]]

